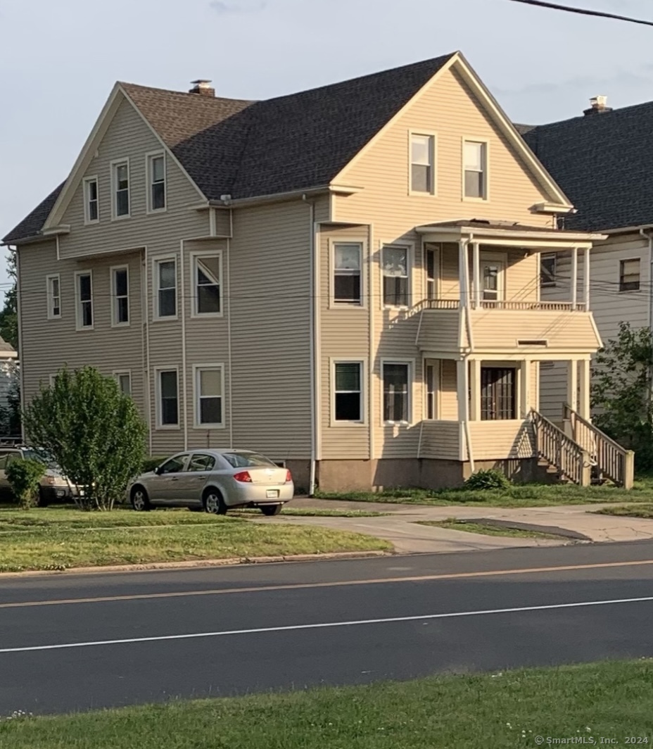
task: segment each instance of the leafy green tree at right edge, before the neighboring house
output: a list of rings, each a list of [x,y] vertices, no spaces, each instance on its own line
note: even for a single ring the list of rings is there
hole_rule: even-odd
[[[595,360],[592,407],[595,424],[635,451],[640,470],[653,469],[653,342],[649,327],[619,325]]]

